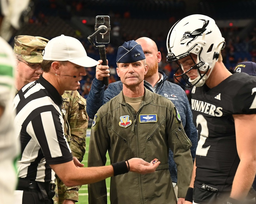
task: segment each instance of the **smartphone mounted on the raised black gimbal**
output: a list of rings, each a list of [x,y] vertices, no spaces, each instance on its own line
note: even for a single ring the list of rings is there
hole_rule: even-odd
[[[106,28],[105,33],[99,33],[96,35],[96,42],[101,43],[109,43],[110,42],[110,18],[109,16],[96,16],[95,22],[95,31],[97,31],[101,27]]]

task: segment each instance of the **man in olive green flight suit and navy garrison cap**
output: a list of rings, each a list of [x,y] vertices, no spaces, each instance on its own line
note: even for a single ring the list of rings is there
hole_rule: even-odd
[[[191,142],[184,132],[180,115],[173,103],[143,86],[147,73],[145,55],[134,40],[124,42],[117,52],[117,74],[123,91],[104,104],[94,117],[90,136],[88,167],[140,157],[161,164],[154,173],[127,173],[111,178],[111,204],[177,203],[168,170],[172,149],[178,171],[178,203],[185,203],[193,161]],[[107,203],[106,183],[88,185],[89,203]]]

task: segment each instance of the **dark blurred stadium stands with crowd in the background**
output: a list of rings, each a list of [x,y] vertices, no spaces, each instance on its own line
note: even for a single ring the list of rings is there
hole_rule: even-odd
[[[193,3],[191,3],[193,2]],[[166,63],[166,36],[178,19],[190,14],[204,14],[227,26],[220,26],[226,40],[222,51],[223,62],[232,68],[239,62],[256,62],[256,0],[230,1],[182,1],[182,0],[35,0],[33,16],[29,24],[23,26],[15,35],[42,36],[52,39],[61,34],[80,40],[88,56],[99,60],[99,51],[87,40],[94,33],[95,17],[110,16],[111,37],[106,45],[110,69],[109,83],[119,80],[116,74],[116,52],[124,41],[149,37],[161,51],[162,61],[159,69],[179,84],[173,74],[175,63]],[[245,23],[241,25],[241,21]],[[234,22],[234,23],[233,23]],[[238,22],[238,23],[235,23]],[[240,24],[239,24],[240,22]],[[218,24],[218,23],[217,23]],[[10,41],[13,45],[13,41]],[[95,76],[95,67],[86,69],[87,75],[81,81],[80,94],[87,98]],[[189,95],[189,89],[185,89]],[[187,89],[187,90],[186,90]]]

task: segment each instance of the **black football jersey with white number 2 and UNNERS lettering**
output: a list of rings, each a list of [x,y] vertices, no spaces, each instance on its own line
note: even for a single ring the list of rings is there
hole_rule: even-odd
[[[191,93],[198,130],[195,186],[205,184],[219,192],[231,191],[240,162],[232,115],[256,113],[256,77],[235,73],[212,89],[204,84]]]

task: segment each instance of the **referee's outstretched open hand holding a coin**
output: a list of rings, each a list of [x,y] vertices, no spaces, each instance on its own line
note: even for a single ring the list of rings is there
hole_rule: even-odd
[[[154,159],[148,163],[141,158],[132,158],[129,159],[128,162],[130,165],[130,171],[140,174],[152,173],[156,171],[156,168],[160,164],[158,159]]]

